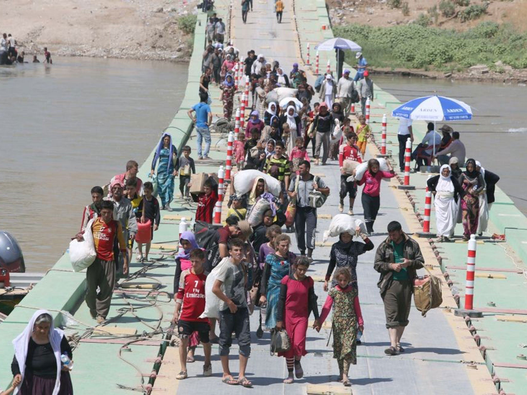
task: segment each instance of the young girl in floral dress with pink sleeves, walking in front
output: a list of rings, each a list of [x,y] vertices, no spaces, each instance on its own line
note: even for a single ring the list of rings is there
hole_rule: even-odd
[[[363,332],[364,320],[357,291],[349,285],[352,278],[349,270],[338,268],[334,278],[337,285],[329,290],[320,314],[320,322],[315,329],[320,331],[333,306],[333,358],[338,363],[339,381],[342,380],[345,387],[350,387],[352,384],[348,379],[349,366],[357,364],[357,323],[358,330]]]

